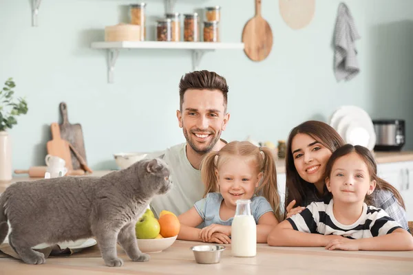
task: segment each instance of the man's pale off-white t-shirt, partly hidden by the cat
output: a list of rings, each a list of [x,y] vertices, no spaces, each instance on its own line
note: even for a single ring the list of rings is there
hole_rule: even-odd
[[[149,154],[149,157],[160,157],[167,162],[171,170],[173,188],[166,195],[158,195],[151,201],[153,214],[159,217],[162,210],[176,215],[189,210],[204,195],[204,184],[201,171],[193,168],[187,157],[187,143],[178,144],[166,151]]]

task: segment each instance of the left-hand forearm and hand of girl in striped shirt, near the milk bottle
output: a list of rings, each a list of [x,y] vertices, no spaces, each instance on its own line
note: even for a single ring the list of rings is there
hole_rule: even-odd
[[[326,246],[334,239],[345,239],[337,235],[321,235],[299,232],[289,221],[282,221],[268,235],[271,246]]]

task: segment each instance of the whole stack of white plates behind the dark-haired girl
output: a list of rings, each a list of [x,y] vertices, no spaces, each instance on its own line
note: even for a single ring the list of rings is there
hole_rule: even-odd
[[[330,118],[334,128],[346,143],[361,145],[373,150],[376,133],[370,115],[357,106],[339,107]]]

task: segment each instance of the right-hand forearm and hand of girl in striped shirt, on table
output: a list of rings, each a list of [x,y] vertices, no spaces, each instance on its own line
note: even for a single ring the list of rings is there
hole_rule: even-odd
[[[413,250],[413,236],[401,228],[397,228],[392,233],[365,238],[350,240],[330,241],[326,245],[328,250]]]

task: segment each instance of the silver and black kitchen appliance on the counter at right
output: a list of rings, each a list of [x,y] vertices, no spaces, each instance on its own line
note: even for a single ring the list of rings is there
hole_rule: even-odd
[[[404,120],[373,120],[377,135],[375,151],[401,151],[405,144]]]

